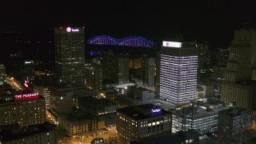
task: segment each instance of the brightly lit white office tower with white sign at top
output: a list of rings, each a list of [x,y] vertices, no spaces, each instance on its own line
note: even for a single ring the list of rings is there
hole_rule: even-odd
[[[162,42],[160,98],[176,106],[196,98],[198,48],[194,42]]]

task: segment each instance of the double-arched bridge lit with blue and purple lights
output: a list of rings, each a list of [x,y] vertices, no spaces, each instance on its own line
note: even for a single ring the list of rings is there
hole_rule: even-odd
[[[87,41],[91,45],[112,45],[112,46],[133,46],[133,47],[154,47],[155,43],[142,37],[126,37],[116,39],[108,35],[98,35]]]

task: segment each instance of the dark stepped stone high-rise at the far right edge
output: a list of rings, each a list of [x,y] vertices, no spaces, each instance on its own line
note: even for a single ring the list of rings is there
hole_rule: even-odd
[[[234,102],[238,107],[250,109],[255,95],[250,79],[250,42],[234,40],[230,45],[230,57],[222,82],[221,100]]]

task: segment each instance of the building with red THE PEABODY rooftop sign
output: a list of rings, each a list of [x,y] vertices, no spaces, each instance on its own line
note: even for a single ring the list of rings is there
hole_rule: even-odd
[[[38,93],[16,94],[0,102],[0,126],[30,126],[46,122],[45,98]]]

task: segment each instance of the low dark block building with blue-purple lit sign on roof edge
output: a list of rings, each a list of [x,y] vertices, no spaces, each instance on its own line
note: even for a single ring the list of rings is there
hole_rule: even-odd
[[[117,110],[118,134],[127,141],[141,141],[171,130],[171,114],[152,104],[128,106]]]

